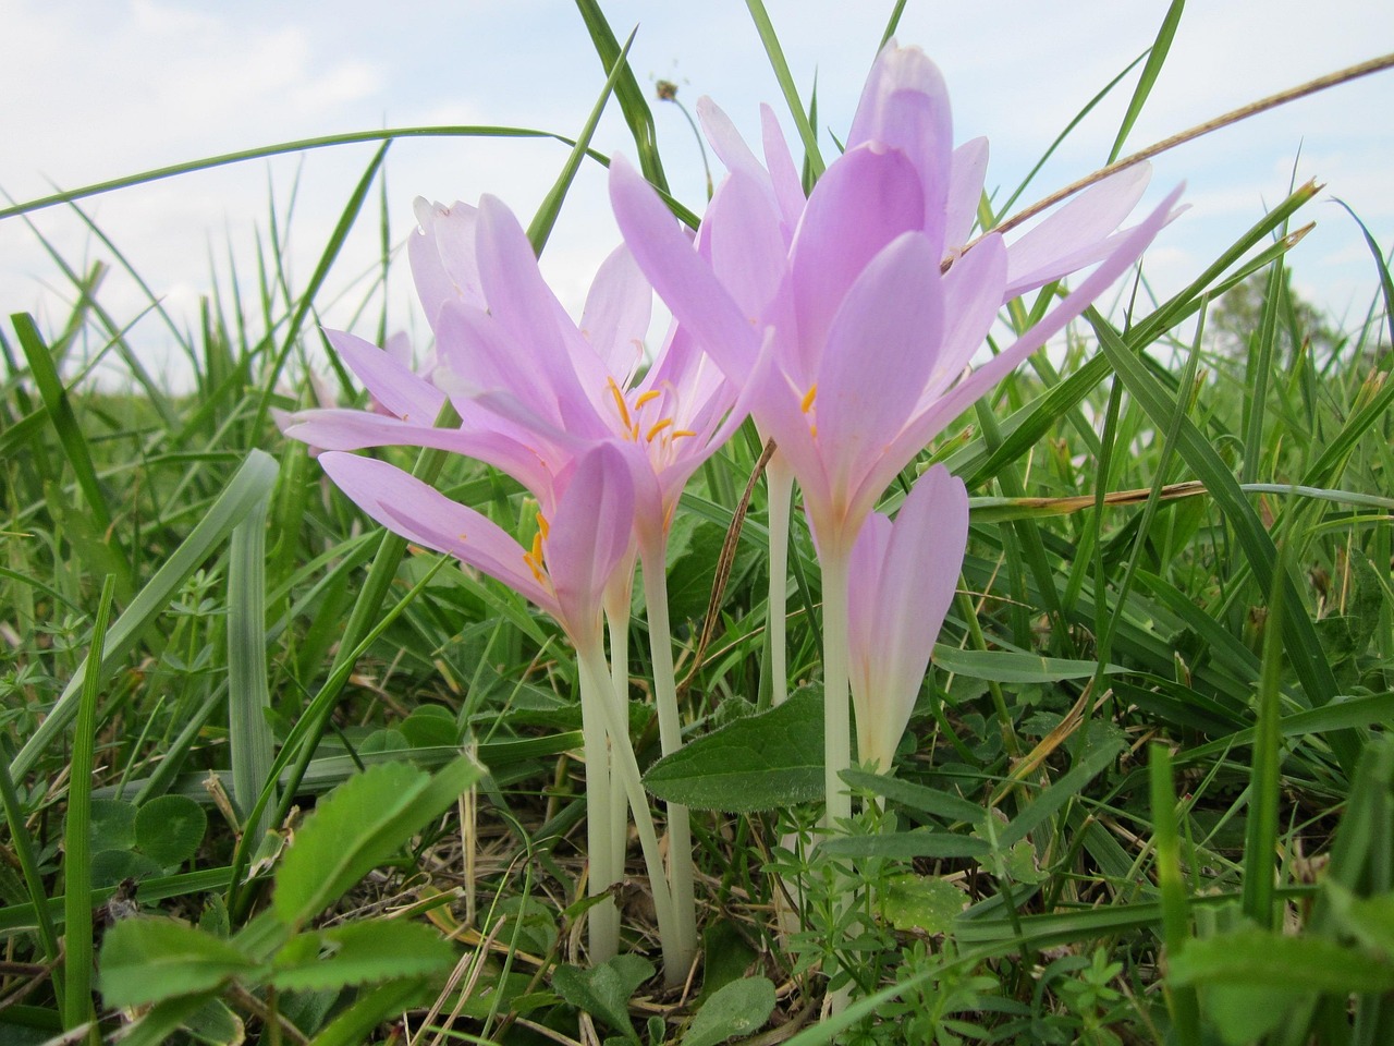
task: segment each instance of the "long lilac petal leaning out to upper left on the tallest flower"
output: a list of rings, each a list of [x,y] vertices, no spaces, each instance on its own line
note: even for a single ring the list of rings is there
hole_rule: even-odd
[[[654,187],[623,156],[613,156],[609,170],[615,219],[638,266],[717,365],[732,381],[743,381],[761,342],[754,324],[693,250]]]

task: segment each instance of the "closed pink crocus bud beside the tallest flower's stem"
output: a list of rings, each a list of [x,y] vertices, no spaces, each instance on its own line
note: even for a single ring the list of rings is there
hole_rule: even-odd
[[[967,490],[942,464],[852,547],[848,647],[857,760],[888,771],[914,711],[967,544]]]

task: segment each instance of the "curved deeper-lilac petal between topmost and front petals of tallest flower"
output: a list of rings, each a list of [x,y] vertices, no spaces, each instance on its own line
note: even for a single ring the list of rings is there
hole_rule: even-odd
[[[797,342],[810,370],[848,287],[881,248],[923,223],[920,176],[901,152],[852,149],[818,179],[790,250]]]

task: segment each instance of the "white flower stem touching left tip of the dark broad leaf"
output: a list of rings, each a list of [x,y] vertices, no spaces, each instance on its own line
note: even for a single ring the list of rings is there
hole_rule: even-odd
[[[673,674],[673,637],[668,619],[668,572],[658,549],[644,561],[644,608],[648,615],[648,643],[654,662],[654,704],[658,708],[658,739],[664,755],[683,746],[677,715],[677,681]],[[668,883],[677,920],[675,951],[686,968],[697,954],[697,900],[693,890],[693,841],[687,808],[668,803]]]

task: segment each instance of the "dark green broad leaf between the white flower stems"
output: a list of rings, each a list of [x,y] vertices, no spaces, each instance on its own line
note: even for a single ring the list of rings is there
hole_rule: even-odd
[[[775,810],[822,795],[822,696],[804,690],[664,756],[644,775],[659,799],[696,810]]]

